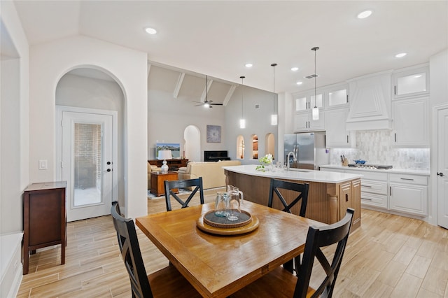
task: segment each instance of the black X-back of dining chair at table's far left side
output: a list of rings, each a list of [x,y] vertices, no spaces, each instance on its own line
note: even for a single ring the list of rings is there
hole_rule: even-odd
[[[194,187],[193,191],[190,193],[186,201],[182,201],[179,196],[174,193],[172,190],[174,189],[180,189],[180,188],[187,188],[187,187]],[[167,211],[171,211],[171,199],[170,196],[173,196],[176,201],[181,204],[181,208],[188,207],[188,204],[190,204],[191,199],[195,197],[196,192],[199,190],[200,195],[200,201],[201,204],[204,204],[204,187],[202,187],[202,177],[195,178],[195,179],[186,179],[186,180],[165,180],[165,201],[167,203]]]

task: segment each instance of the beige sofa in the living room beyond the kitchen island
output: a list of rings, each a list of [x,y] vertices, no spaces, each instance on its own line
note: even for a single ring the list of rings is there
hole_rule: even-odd
[[[220,160],[218,162],[188,162],[186,167],[179,168],[179,180],[202,177],[204,190],[225,186],[223,166],[239,166],[239,160]]]

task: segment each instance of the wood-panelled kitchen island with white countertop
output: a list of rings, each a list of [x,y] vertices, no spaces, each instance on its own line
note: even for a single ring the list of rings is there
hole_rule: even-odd
[[[226,184],[234,185],[244,193],[244,199],[267,205],[270,179],[308,183],[308,202],[306,217],[328,224],[344,217],[346,208],[355,209],[352,229],[360,227],[360,177],[362,175],[291,169],[290,171],[257,171],[255,164],[241,166],[223,166]],[[293,192],[281,191],[289,203],[295,199]],[[274,200],[274,208],[283,208]],[[244,205],[243,205],[244,208]],[[300,206],[294,206],[293,213],[298,214]]]

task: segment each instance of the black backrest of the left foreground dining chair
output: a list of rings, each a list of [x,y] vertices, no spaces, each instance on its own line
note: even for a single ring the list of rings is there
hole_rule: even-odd
[[[123,218],[118,208],[118,202],[113,201],[111,207],[113,226],[117,232],[118,246],[131,281],[132,297],[153,297],[143,258],[141,257],[134,220]]]

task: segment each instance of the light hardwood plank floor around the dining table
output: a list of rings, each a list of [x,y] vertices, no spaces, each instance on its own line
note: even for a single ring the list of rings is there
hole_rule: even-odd
[[[206,201],[214,201],[216,191],[206,192]],[[165,200],[148,199],[148,212],[159,211],[165,211]],[[148,274],[167,266],[153,243],[138,234]],[[69,222],[66,264],[60,265],[58,247],[31,255],[18,297],[131,297],[111,217]],[[362,209],[334,297],[448,297],[448,230]]]

